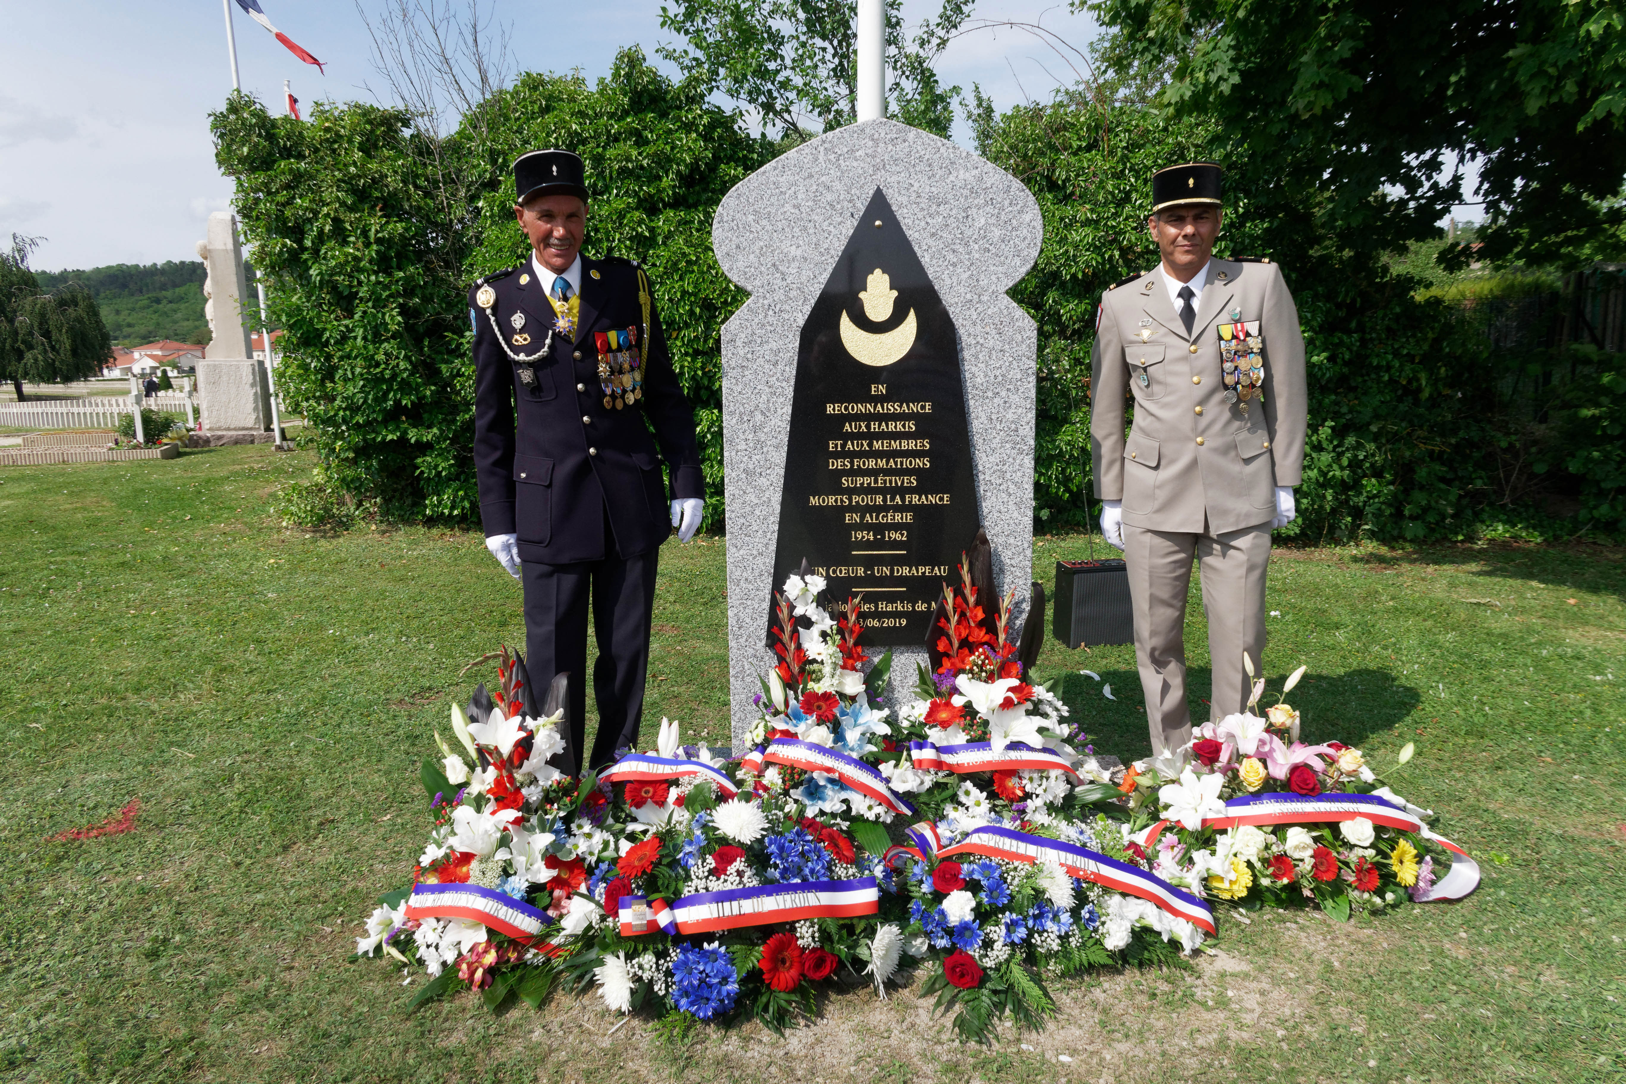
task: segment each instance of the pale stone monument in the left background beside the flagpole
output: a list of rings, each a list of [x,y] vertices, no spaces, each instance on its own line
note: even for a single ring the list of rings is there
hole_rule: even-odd
[[[270,385],[249,343],[244,312],[249,283],[242,271],[237,218],[231,211],[208,216],[208,239],[198,242],[198,255],[208,271],[203,314],[210,327],[210,345],[197,364],[203,427],[210,434],[244,437],[267,432],[272,427]]]

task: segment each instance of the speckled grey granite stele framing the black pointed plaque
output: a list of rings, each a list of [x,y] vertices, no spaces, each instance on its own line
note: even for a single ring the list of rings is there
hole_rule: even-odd
[[[893,231],[901,231],[901,239],[888,241]],[[873,244],[865,241],[870,236],[875,244],[891,244],[896,255],[872,257]],[[728,278],[751,294],[722,328],[735,748],[745,744],[756,722],[751,697],[761,691],[759,678],[774,660],[766,634],[769,598],[779,587],[772,582],[779,574],[776,548],[784,548],[780,514],[793,507],[793,501],[785,502],[798,492],[805,507],[810,486],[823,484],[834,497],[868,496],[868,502],[844,504],[831,523],[836,528],[857,523],[855,531],[870,531],[862,517],[868,515],[876,494],[886,502],[881,507],[889,507],[896,496],[899,509],[909,509],[922,504],[920,496],[912,494],[932,496],[969,484],[974,492],[950,494],[951,507],[974,502],[974,518],[993,546],[995,582],[1002,592],[1016,592],[1013,629],[1021,626],[1033,562],[1037,328],[1005,291],[1033,267],[1042,236],[1039,206],[1021,182],[946,140],[893,120],[867,120],[803,143],[741,180],[717,208],[712,224],[717,260]],[[893,283],[894,278],[899,281]],[[860,286],[862,294],[857,293]],[[933,322],[946,332],[925,343]],[[922,345],[914,348],[904,340]],[[859,367],[837,372],[833,369],[837,362]],[[935,406],[896,401],[906,387],[894,385],[906,385],[909,367],[917,362],[915,372],[932,369],[937,374],[940,384],[932,397],[953,406],[953,426],[940,423]],[[865,372],[873,372],[873,388],[854,375]],[[878,413],[880,418],[917,418],[919,427],[899,432],[907,429],[906,423],[888,423],[888,444],[850,452],[846,440],[841,449],[833,447],[836,440],[823,431],[821,439],[811,442],[818,447],[787,447],[797,432],[792,405],[803,397],[798,382],[810,374],[805,384],[811,397],[798,406],[803,418],[876,410],[886,411]],[[820,395],[839,395],[826,390],[829,374],[846,384],[857,380],[857,395],[842,392],[857,405],[813,401]],[[958,388],[959,403],[951,401],[951,388]],[[870,406],[870,400],[880,406]],[[914,444],[902,457],[894,453],[904,447],[894,436],[919,436],[927,424],[937,426],[930,449]],[[881,431],[881,426],[867,427],[863,436]],[[787,460],[795,468],[790,486]],[[954,481],[964,478],[958,470],[945,470],[964,460],[969,460],[969,483]],[[873,488],[844,489],[860,484]],[[849,515],[860,518],[846,518]],[[828,544],[836,528],[824,520],[802,518],[815,533],[823,533],[826,549],[836,549]],[[810,561],[846,557],[868,583],[886,583],[872,588],[867,605],[907,598],[919,592],[917,580],[924,579],[917,574],[915,544],[920,540],[911,536],[894,543],[893,538],[886,528],[873,528],[873,541],[870,535],[862,541],[854,535],[852,554],[829,553],[816,559],[810,554]],[[800,544],[800,540],[792,541]],[[950,544],[958,549],[969,541],[956,538]],[[859,554],[859,549],[873,553]],[[927,561],[935,572],[935,557]],[[881,562],[891,566],[876,567]],[[907,572],[898,567],[904,562]],[[841,570],[846,572],[850,570]],[[951,575],[950,570],[943,579]],[[854,582],[860,588],[867,585]],[[844,603],[844,598],[833,601]],[[914,608],[911,603],[911,613]],[[911,624],[909,639],[917,634]],[[888,642],[894,674],[888,692],[896,699],[914,686],[915,663],[925,660],[925,639]]]

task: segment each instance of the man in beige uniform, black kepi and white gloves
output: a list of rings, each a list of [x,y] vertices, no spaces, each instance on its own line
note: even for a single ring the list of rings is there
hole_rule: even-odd
[[[1158,268],[1101,297],[1089,447],[1101,530],[1124,551],[1153,754],[1192,736],[1185,593],[1202,569],[1211,718],[1247,705],[1242,653],[1262,671],[1270,530],[1294,518],[1304,460],[1304,336],[1281,270],[1216,260],[1220,167],[1151,179]],[[1124,436],[1124,408],[1135,421]]]

